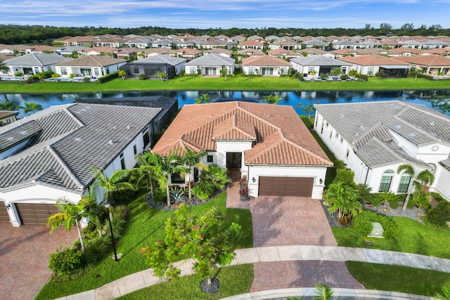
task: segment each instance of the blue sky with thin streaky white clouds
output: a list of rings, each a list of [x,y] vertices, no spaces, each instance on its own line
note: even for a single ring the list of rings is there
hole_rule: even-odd
[[[1,24],[169,28],[450,28],[450,0],[2,0]]]

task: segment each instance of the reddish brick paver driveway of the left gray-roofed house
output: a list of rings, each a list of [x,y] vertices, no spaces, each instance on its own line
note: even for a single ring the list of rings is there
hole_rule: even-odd
[[[76,239],[75,228],[50,235],[46,226],[0,223],[0,299],[34,299],[50,278],[49,254]]]

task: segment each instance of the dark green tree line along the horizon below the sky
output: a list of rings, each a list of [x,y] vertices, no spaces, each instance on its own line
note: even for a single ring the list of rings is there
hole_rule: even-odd
[[[366,24],[364,28],[275,28],[275,27],[261,27],[261,28],[185,28],[185,29],[173,29],[167,27],[153,27],[143,26],[136,28],[119,28],[119,27],[56,27],[56,26],[42,26],[42,25],[0,25],[0,44],[51,44],[53,39],[60,37],[75,37],[86,35],[102,35],[102,34],[138,34],[138,35],[151,35],[160,34],[167,36],[169,34],[192,34],[194,36],[209,35],[211,37],[225,34],[228,37],[233,37],[238,34],[243,34],[245,37],[252,35],[259,35],[261,37],[267,37],[269,35],[276,35],[282,37],[288,36],[330,36],[335,35],[337,37],[348,35],[421,35],[421,36],[437,36],[446,35],[450,36],[450,28],[444,29],[439,24],[434,25],[420,25],[415,27],[413,23],[405,23],[400,28],[394,29],[390,23],[381,23],[378,27]]]

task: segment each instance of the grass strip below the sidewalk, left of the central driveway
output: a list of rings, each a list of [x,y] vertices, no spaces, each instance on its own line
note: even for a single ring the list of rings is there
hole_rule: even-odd
[[[205,294],[200,289],[200,276],[190,275],[175,278],[159,285],[153,285],[145,289],[124,295],[125,299],[158,299],[158,300],[191,300],[191,299],[221,299],[233,295],[250,292],[253,281],[253,265],[229,266],[221,268],[214,276],[220,280],[220,289],[217,294]]]

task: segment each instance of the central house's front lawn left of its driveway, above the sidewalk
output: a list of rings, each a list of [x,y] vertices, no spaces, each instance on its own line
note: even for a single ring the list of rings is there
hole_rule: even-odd
[[[238,248],[253,247],[252,216],[249,209],[226,209],[226,193],[221,193],[215,200],[207,204],[193,207],[197,211],[205,211],[212,207],[225,209],[227,221],[236,222],[242,226],[242,234]],[[153,243],[164,237],[164,223],[172,211],[161,211],[151,208],[139,197],[129,204],[130,218],[122,238],[117,243],[117,253],[122,253],[122,259],[115,262],[108,255],[98,265],[86,270],[86,273],[77,279],[68,282],[48,283],[41,289],[37,299],[55,299],[69,294],[76,294],[89,289],[101,287],[108,282],[122,278],[125,275],[139,272],[148,268],[145,256],[140,254],[141,247]]]

